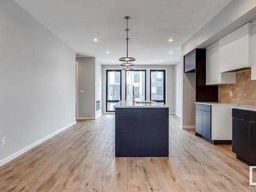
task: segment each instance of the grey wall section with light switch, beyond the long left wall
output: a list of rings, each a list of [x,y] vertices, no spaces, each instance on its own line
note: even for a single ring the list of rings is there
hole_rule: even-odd
[[[95,57],[76,58],[76,61],[78,62],[78,119],[95,118]]]

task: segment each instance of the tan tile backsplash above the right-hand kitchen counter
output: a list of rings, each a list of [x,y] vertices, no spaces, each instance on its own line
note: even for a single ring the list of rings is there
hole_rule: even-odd
[[[256,80],[251,80],[251,71],[236,75],[236,84],[219,86],[219,102],[256,105]],[[229,95],[230,91],[232,96]]]

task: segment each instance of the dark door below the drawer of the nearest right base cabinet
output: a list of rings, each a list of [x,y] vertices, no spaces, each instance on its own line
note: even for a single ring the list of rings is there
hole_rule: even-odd
[[[238,157],[249,159],[249,122],[243,119],[232,118],[232,151]]]

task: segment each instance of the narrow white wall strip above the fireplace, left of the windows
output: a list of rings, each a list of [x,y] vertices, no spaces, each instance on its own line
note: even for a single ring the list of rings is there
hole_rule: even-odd
[[[101,105],[102,105],[102,101],[101,101],[101,77],[102,77],[102,66],[101,64],[98,62],[98,60],[96,59],[95,61],[95,103],[96,101],[100,101]],[[96,108],[95,108],[96,110]],[[102,107],[100,108],[100,110],[95,111],[95,117],[97,118],[99,115],[101,115],[101,110]]]

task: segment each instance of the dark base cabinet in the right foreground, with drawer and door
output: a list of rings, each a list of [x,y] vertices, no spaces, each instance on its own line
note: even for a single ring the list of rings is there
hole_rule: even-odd
[[[256,112],[232,109],[232,151],[249,165],[256,165]]]

